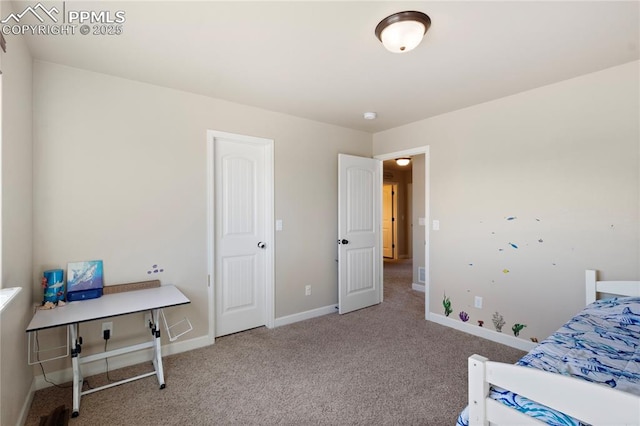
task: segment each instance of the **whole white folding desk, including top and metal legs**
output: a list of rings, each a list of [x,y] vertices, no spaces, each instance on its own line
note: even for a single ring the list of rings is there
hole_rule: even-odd
[[[161,286],[144,290],[107,294],[97,299],[70,302],[67,303],[66,306],[55,309],[38,310],[27,327],[27,333],[61,326],[67,326],[69,328],[69,335],[71,337],[69,339],[69,346],[71,352],[71,364],[73,367],[72,417],[77,417],[80,414],[80,397],[88,393],[117,386],[143,377],[148,377],[153,374],[158,377],[160,389],[164,389],[165,383],[164,372],[162,370],[159,326],[160,310],[187,303],[191,303],[191,301],[174,286]],[[145,311],[151,312],[151,323],[149,324],[152,336],[151,341],[95,355],[84,357],[80,355],[82,352],[82,337],[78,336],[79,323]],[[81,364],[147,348],[154,349],[154,371],[151,373],[145,373],[129,379],[113,382],[105,386],[93,388],[88,391],[82,391],[82,383],[84,379],[82,377],[82,371],[80,370]]]

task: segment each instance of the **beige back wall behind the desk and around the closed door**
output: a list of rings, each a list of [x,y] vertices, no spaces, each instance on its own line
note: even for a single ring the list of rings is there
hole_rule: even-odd
[[[189,317],[187,338],[206,336],[211,129],[275,141],[276,317],[337,303],[337,155],[370,156],[370,134],[45,62],[34,90],[34,281],[102,259],[106,284],[179,286],[192,303],[171,314]],[[134,317],[114,319],[114,344]],[[85,327],[89,346],[98,327]]]

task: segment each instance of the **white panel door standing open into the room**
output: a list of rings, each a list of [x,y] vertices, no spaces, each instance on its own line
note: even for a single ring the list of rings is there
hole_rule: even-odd
[[[382,302],[382,162],[338,154],[338,306]]]

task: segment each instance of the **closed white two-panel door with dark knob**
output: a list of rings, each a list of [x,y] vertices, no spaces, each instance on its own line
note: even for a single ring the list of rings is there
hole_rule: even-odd
[[[267,240],[265,149],[233,137],[214,139],[216,336],[266,324],[273,248]]]

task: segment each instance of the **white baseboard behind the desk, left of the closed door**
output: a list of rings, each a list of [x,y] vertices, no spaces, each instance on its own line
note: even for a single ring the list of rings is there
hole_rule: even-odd
[[[162,356],[164,357],[167,355],[179,354],[181,352],[187,352],[193,349],[209,346],[210,344],[211,343],[209,336],[200,336],[182,342],[169,343],[162,346]],[[153,349],[145,349],[109,358],[109,370],[117,370],[119,368],[129,367],[131,365],[136,365],[143,362],[151,362],[152,357]],[[44,364],[44,366],[46,370],[46,363]],[[104,372],[106,372],[106,363],[104,360],[99,360],[82,365],[82,375],[84,377],[90,377]],[[64,370],[47,373],[47,380],[58,384],[71,382],[73,381],[73,370],[71,367],[69,367]],[[34,383],[35,390],[53,386],[51,383],[48,383],[44,380],[44,376],[42,374],[35,376]],[[31,395],[30,397],[33,398],[33,395]],[[31,406],[30,401],[28,406]]]

